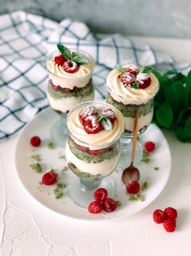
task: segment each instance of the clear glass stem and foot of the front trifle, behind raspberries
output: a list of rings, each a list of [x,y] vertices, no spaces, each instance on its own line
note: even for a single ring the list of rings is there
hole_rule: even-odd
[[[87,186],[89,187],[88,189]],[[95,201],[94,192],[99,188],[104,188],[108,191],[108,198],[113,197],[114,182],[109,176],[105,177],[103,180],[81,181],[78,176],[73,175],[67,184],[66,190],[68,197],[74,204],[78,205],[79,207],[88,209],[89,204]]]

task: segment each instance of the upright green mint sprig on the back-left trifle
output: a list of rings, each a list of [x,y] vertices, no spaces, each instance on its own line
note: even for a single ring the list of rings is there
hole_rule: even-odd
[[[85,56],[77,55],[75,52],[70,52],[70,50],[64,45],[57,45],[61,55],[64,56],[66,61],[71,60],[77,63],[78,65],[88,64],[89,60]]]

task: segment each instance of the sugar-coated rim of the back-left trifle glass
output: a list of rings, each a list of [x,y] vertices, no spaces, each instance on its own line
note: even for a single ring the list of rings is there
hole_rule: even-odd
[[[61,79],[72,79],[72,80],[76,79],[76,80],[77,80],[77,79],[81,79],[82,77],[88,76],[89,74],[91,74],[91,73],[94,71],[94,68],[95,68],[95,60],[94,60],[94,57],[93,57],[91,54],[89,54],[88,52],[85,52],[85,51],[83,51],[83,50],[81,50],[81,49],[72,49],[72,48],[70,48],[69,50],[70,50],[70,52],[79,52],[79,53],[84,54],[84,56],[86,56],[90,61],[92,61],[92,62],[94,63],[94,66],[93,66],[92,70],[91,70],[89,73],[85,74],[84,76],[79,76],[79,77],[67,77],[67,78],[65,78],[65,77],[57,76],[57,75],[53,74],[52,72],[50,72],[50,70],[48,70],[48,62],[49,62],[53,57],[57,56],[58,54],[61,55],[61,52],[60,52],[59,50],[57,50],[57,51],[52,52],[51,54],[49,54],[48,57],[46,58],[46,68],[47,68],[47,70],[48,70],[48,72],[49,72],[50,74],[52,74],[53,76],[59,77],[59,78],[61,78]]]

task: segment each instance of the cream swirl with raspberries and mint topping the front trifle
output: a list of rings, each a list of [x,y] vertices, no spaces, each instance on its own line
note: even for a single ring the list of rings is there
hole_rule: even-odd
[[[117,110],[110,104],[96,101],[89,101],[87,102],[86,106],[83,107],[81,107],[80,105],[81,104],[79,104],[79,108],[75,107],[68,113],[67,126],[70,132],[72,133],[72,137],[74,140],[75,138],[77,138],[81,141],[82,145],[83,142],[88,144],[90,149],[91,145],[94,149],[95,146],[97,146],[97,149],[99,149],[104,148],[104,144],[107,144],[105,145],[105,147],[108,147],[108,143],[112,144],[116,139],[119,139],[125,128],[125,121],[123,115],[119,110]],[[89,107],[90,105],[94,106],[98,115],[94,116],[90,114],[83,120],[83,118],[81,118],[81,113],[86,107]],[[102,114],[104,113],[103,110],[105,109],[112,110],[112,117],[115,116],[116,118],[111,119],[112,121],[110,121],[109,116],[106,117],[105,114]],[[99,117],[103,119],[103,122],[99,121]],[[103,124],[105,123],[104,119],[106,120],[106,124]],[[101,122],[101,126],[98,125],[99,122]],[[90,130],[88,130],[88,128],[86,130],[86,125],[90,126]],[[94,131],[94,127],[96,131]]]

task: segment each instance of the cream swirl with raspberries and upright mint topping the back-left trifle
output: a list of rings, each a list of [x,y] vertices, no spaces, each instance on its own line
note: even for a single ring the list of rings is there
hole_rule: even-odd
[[[92,77],[94,58],[82,50],[68,49],[64,45],[57,47],[59,51],[50,54],[46,61],[49,79],[62,88],[83,88]]]

